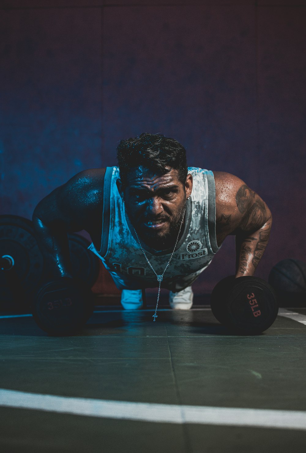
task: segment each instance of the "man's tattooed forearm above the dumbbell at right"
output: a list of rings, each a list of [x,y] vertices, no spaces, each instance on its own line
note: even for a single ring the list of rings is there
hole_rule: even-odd
[[[272,216],[249,236],[238,234],[236,241],[236,277],[254,275],[266,249],[272,226]]]

